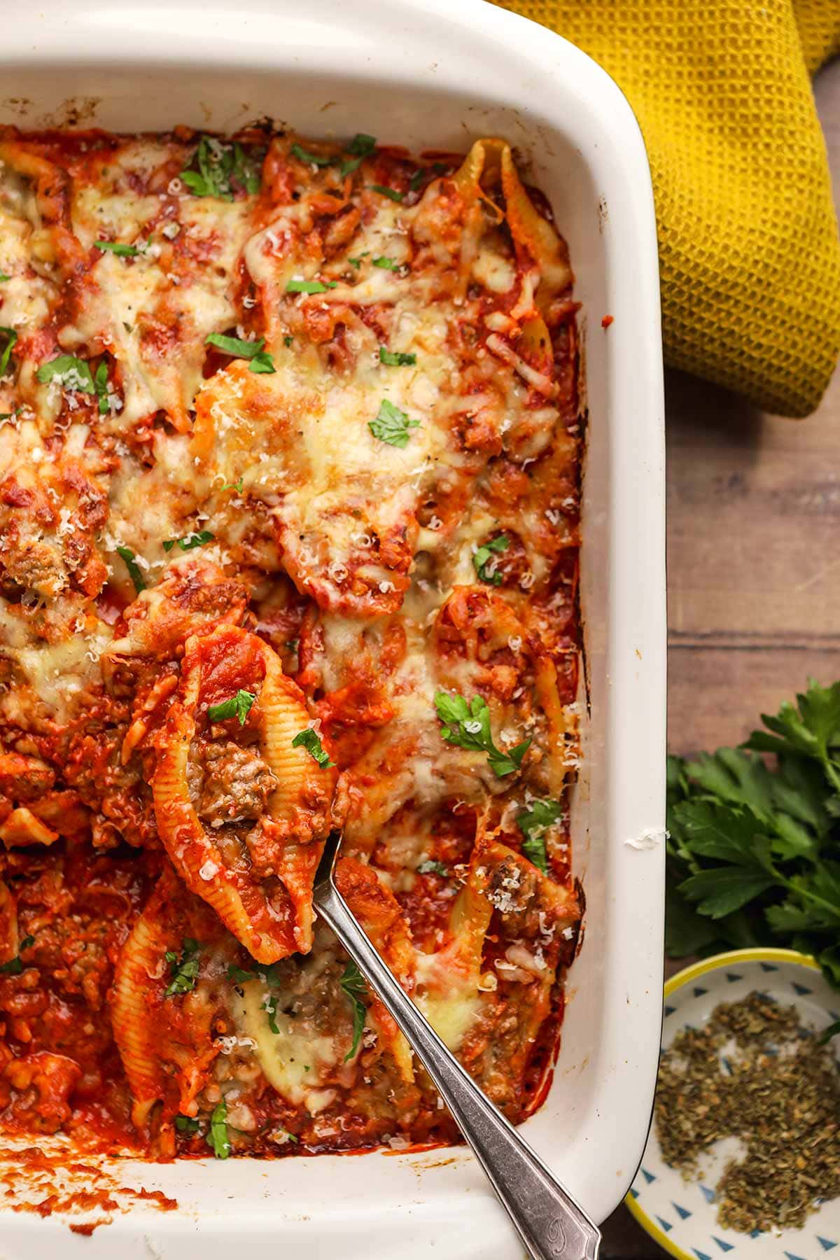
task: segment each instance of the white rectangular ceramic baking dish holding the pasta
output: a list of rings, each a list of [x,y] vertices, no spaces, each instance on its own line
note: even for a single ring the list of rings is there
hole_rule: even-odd
[[[21,126],[228,130],[271,115],[305,135],[366,131],[412,149],[504,135],[550,198],[583,301],[589,407],[592,712],[574,828],[587,916],[553,1087],[525,1133],[602,1220],[647,1131],[664,919],[662,843],[640,842],[664,827],[659,284],[647,160],[627,102],[570,44],[482,0],[39,0],[4,24],[0,93],[0,121]],[[126,1164],[120,1178],[181,1210],[132,1208],[91,1239],[60,1218],[6,1215],[4,1260],[59,1249],[68,1260],[229,1260],[234,1247],[249,1260],[521,1254],[460,1150]]]

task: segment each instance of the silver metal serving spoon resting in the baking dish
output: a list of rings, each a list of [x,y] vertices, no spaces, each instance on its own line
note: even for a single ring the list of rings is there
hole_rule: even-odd
[[[534,1260],[596,1260],[598,1227],[450,1053],[350,912],[332,882],[340,842],[334,832],[315,876],[319,915],[406,1034]]]

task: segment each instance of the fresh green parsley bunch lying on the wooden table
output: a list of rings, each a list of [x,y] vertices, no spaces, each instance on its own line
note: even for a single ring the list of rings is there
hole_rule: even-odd
[[[741,748],[667,760],[666,949],[788,946],[840,988],[840,682],[762,722]]]

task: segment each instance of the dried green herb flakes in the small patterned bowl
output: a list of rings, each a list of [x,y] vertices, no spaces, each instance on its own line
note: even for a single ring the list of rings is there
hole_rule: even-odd
[[[840,1068],[795,1007],[751,993],[684,1028],[660,1062],[656,1135],[688,1179],[722,1138],[746,1153],[717,1186],[732,1230],[801,1226],[817,1200],[840,1194]]]

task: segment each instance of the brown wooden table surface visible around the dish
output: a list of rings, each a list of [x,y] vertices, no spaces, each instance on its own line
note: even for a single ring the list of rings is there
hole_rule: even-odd
[[[840,60],[815,92],[840,202]],[[667,727],[686,753],[738,743],[809,675],[840,678],[840,372],[805,421],[680,372],[665,389]],[[664,1255],[625,1207],[601,1254]]]

